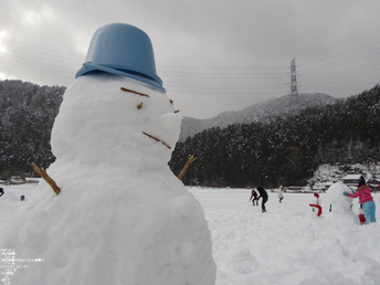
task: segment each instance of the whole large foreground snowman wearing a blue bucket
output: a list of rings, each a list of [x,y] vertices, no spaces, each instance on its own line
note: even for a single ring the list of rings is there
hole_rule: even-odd
[[[167,163],[181,119],[148,35],[99,28],[52,129],[61,192],[41,181],[1,234],[19,263],[40,261],[11,284],[214,284],[203,210]]]

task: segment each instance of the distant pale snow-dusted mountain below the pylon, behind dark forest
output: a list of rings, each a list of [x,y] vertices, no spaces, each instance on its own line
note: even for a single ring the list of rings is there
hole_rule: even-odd
[[[238,112],[223,112],[215,117],[197,119],[184,117],[181,124],[180,141],[188,137],[212,127],[224,128],[231,124],[247,124],[276,116],[294,115],[302,109],[313,106],[325,106],[336,102],[336,98],[323,93],[300,93],[298,99],[292,99],[291,95],[267,99],[251,105]]]

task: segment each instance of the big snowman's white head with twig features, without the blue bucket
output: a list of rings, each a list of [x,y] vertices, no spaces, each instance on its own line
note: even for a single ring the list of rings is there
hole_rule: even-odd
[[[66,89],[51,144],[57,160],[161,167],[170,160],[181,120],[157,88],[118,75],[86,75]]]

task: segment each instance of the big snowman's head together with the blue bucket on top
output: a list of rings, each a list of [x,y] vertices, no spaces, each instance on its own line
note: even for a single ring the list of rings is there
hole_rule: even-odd
[[[124,23],[99,28],[64,94],[52,131],[53,154],[60,161],[91,165],[167,162],[182,116],[165,92],[144,31]]]

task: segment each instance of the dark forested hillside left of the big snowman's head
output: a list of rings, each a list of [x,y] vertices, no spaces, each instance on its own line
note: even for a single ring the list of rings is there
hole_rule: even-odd
[[[0,82],[0,173],[32,172],[54,161],[50,136],[65,87]]]

